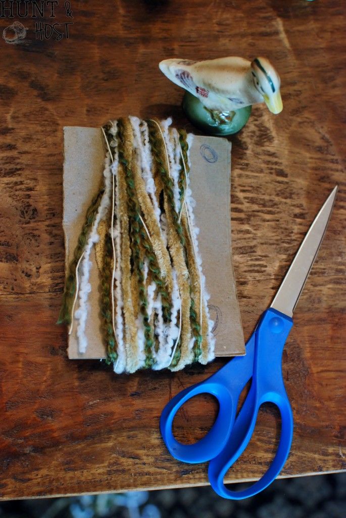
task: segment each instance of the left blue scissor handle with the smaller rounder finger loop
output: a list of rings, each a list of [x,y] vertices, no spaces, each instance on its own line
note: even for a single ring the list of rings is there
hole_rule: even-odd
[[[178,461],[196,464],[216,457],[231,434],[239,395],[252,376],[254,335],[246,346],[246,356],[233,358],[210,378],[179,392],[164,407],[160,430],[164,443]],[[198,394],[211,394],[219,401],[219,413],[208,434],[194,444],[178,442],[172,433],[176,412],[188,399]]]

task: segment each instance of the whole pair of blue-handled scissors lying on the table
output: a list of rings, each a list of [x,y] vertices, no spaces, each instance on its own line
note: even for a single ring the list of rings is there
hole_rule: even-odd
[[[282,379],[282,351],[293,325],[293,311],[323,240],[336,192],[337,186],[311,224],[272,305],[264,311],[246,344],[246,355],[231,359],[207,380],[183,390],[162,411],[161,435],[171,455],[190,464],[210,461],[210,484],[224,498],[240,500],[264,490],[280,473],[290,452],[293,415]],[[251,378],[249,393],[236,415],[239,396]],[[188,399],[203,393],[218,399],[216,421],[200,441],[194,444],[179,443],[172,433],[174,416]],[[280,411],[278,450],[260,480],[243,491],[231,491],[224,485],[223,479],[247,447],[260,406],[266,402],[274,403]]]

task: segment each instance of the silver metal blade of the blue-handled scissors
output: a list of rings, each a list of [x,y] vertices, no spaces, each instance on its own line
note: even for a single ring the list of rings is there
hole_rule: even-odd
[[[323,241],[337,190],[338,186],[336,185],[312,222],[270,306],[285,315],[293,315],[300,293],[303,291],[304,284]]]

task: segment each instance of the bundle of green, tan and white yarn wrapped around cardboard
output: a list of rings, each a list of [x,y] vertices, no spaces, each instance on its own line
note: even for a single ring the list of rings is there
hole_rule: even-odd
[[[102,128],[102,185],[66,278],[58,322],[70,333],[77,325],[85,353],[88,296],[98,290],[106,362],[117,373],[179,370],[214,358],[189,188],[193,136],[171,123],[128,117]],[[93,249],[99,286],[89,283]]]

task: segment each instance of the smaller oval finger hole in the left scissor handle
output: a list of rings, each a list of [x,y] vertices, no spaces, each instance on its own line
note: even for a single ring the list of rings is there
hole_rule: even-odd
[[[205,437],[219,412],[219,402],[210,394],[191,397],[174,416],[172,431],[182,444],[193,444]]]

